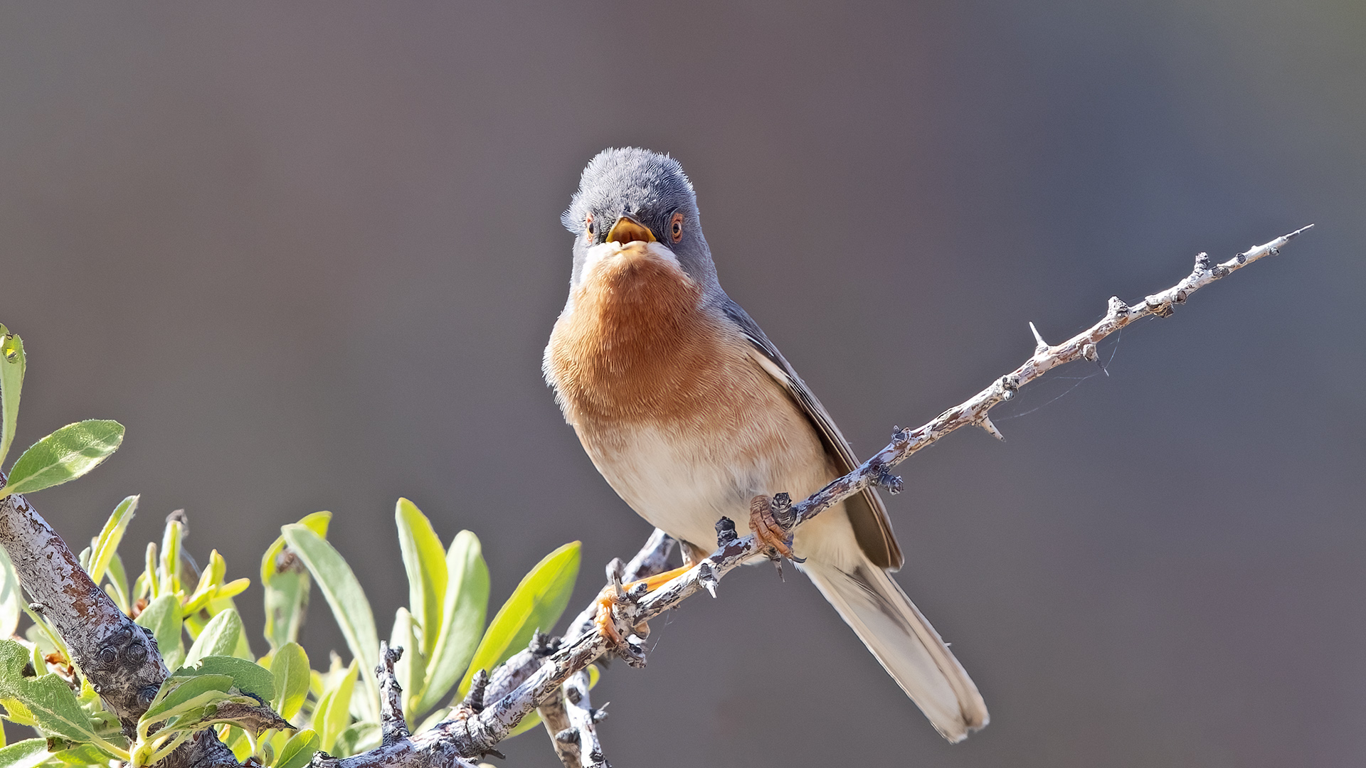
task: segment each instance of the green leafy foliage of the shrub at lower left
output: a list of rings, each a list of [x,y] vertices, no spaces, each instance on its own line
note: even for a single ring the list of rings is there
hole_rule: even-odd
[[[23,342],[0,325],[0,463],[14,437],[23,366]],[[112,421],[63,426],[15,461],[0,497],[79,477],[122,440],[123,426]],[[201,568],[183,548],[183,518],[168,518],[160,547],[146,545],[143,567],[130,582],[119,547],[137,508],[138,496],[119,503],[81,552],[81,564],[122,611],[152,631],[171,675],[130,742],[72,666],[61,637],[26,605],[14,566],[0,549],[3,720],[40,735],[8,746],[0,741],[0,768],[107,768],[111,760],[149,765],[205,727],[214,727],[238,760],[254,756],[272,768],[302,768],[317,750],[343,757],[380,743],[374,611],[355,573],[326,540],[331,512],[283,526],[261,558],[269,650],[258,657],[235,604],[249,579],[229,581],[216,549]],[[395,523],[408,605],[395,611],[389,645],[404,649],[395,674],[404,717],[419,732],[447,715],[452,696],[464,696],[474,672],[492,670],[525,648],[533,633],[555,626],[578,575],[579,543],[537,563],[485,625],[489,568],[478,537],[462,530],[445,547],[407,499],[399,499]],[[318,664],[322,668],[314,668],[298,644],[314,582],[342,629],[350,663],[332,652],[325,666]],[[29,626],[18,635],[25,615]],[[531,715],[515,732],[535,723]]]

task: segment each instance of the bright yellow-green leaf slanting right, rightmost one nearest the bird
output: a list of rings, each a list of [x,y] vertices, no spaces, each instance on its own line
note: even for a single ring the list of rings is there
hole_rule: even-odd
[[[570,603],[574,579],[579,575],[579,543],[571,541],[546,555],[522,577],[508,601],[499,608],[489,622],[479,648],[474,652],[470,668],[460,681],[456,696],[463,697],[470,690],[470,679],[479,670],[492,671],[504,659],[526,648],[535,630],[549,631],[560,620],[560,614]]]

